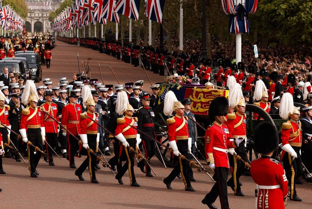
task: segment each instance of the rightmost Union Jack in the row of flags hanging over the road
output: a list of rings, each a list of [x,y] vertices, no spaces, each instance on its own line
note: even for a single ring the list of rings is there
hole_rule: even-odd
[[[165,1],[166,0],[145,0],[144,14],[146,14],[146,17],[161,23]]]

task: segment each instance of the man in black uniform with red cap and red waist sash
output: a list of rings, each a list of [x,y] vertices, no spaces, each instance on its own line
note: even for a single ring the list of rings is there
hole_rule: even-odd
[[[142,130],[145,134],[148,134],[153,139],[156,139],[156,132],[154,126],[155,115],[154,110],[149,107],[150,100],[151,99],[149,94],[140,96],[142,107],[140,107],[138,111],[135,113],[135,117],[138,118],[137,128],[139,130]],[[142,143],[145,150],[145,158],[149,160],[155,155],[155,141],[142,133],[138,134],[140,134],[140,137],[142,139]],[[144,164],[143,159],[137,164],[137,166],[141,169],[142,173],[145,173],[147,177],[153,177],[153,175],[151,174],[151,168],[148,165]]]

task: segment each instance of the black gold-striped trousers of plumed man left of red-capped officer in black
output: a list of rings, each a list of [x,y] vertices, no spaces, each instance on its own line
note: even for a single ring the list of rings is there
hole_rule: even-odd
[[[127,142],[129,143],[130,147],[134,148],[136,147],[136,139],[127,139]],[[134,176],[134,153],[129,152],[129,147],[124,147],[123,145],[120,145],[119,150],[119,162],[121,166],[121,162],[126,161],[122,168],[120,168],[120,171],[118,171],[116,175],[116,179],[122,178],[126,171],[129,170],[129,177],[130,177],[130,184],[132,185],[134,182],[136,182],[135,176]],[[118,168],[118,166],[117,166]]]

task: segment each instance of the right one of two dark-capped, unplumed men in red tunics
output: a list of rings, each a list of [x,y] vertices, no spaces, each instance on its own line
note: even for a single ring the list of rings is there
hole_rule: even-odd
[[[78,95],[74,91],[70,92],[69,95],[69,104],[65,105],[62,109],[62,125],[68,129],[76,137],[79,137],[80,134],[80,114],[82,113],[81,106],[77,104]],[[68,142],[68,156],[66,157],[69,160],[69,166],[71,168],[76,168],[75,165],[75,155],[78,152],[78,142],[71,135],[67,134],[67,131],[64,129],[63,136],[67,136]]]

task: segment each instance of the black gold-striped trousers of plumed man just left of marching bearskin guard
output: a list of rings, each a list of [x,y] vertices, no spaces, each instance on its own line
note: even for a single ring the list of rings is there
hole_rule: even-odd
[[[184,155],[184,156],[188,156],[188,139],[180,139],[177,140],[177,147],[179,152]],[[187,173],[187,169],[188,169],[188,163],[186,160],[182,160],[181,159],[181,164],[182,164],[182,172],[181,171],[181,166],[180,166],[180,161],[178,156],[174,155],[173,157],[173,165],[174,168],[171,171],[171,173],[169,174],[169,176],[167,178],[165,178],[163,180],[164,183],[171,183],[173,181],[173,179],[175,177],[178,176],[179,173],[181,173],[182,178],[183,178],[183,182],[185,185],[185,189],[191,186],[191,182],[188,178],[188,173]]]

